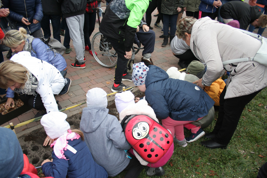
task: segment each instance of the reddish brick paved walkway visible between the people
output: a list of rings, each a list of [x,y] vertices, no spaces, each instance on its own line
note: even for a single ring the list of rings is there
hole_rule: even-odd
[[[155,10],[154,13],[152,13],[152,22],[151,22],[152,27],[154,27],[153,24],[155,23],[156,18],[157,18],[153,16],[154,14],[156,14],[156,12],[157,11]],[[185,13],[183,17],[184,16],[185,16]],[[160,25],[163,26],[162,22],[160,22]],[[93,34],[91,35],[90,39],[92,39],[94,34],[99,31],[98,27],[99,25],[96,24],[95,30]],[[154,27],[153,30],[156,34],[155,49],[154,49],[154,52],[152,53],[152,60],[154,64],[157,65],[158,67],[163,68],[164,70],[167,70],[170,67],[177,67],[178,69],[181,69],[181,67],[177,64],[178,58],[176,58],[171,52],[170,44],[168,43],[166,47],[161,47],[161,44],[163,42],[163,38],[159,38],[159,36],[163,34],[161,33],[161,29],[157,29]],[[263,33],[263,36],[267,37],[267,31]],[[61,36],[62,43],[63,43],[63,40],[64,40],[64,37]],[[99,87],[99,88],[103,88],[103,90],[105,90],[108,94],[112,93],[111,87],[113,84],[115,67],[111,69],[102,67],[99,63],[97,63],[95,58],[89,54],[88,51],[85,51],[86,68],[85,69],[72,68],[70,67],[70,64],[74,63],[76,59],[75,58],[76,53],[72,45],[72,41],[70,43],[70,47],[72,48],[72,52],[70,52],[69,54],[64,54],[63,56],[68,65],[68,73],[66,77],[71,79],[72,83],[71,83],[68,94],[62,95],[62,96],[56,96],[56,100],[59,101],[62,108],[66,108],[66,107],[77,105],[79,103],[86,102],[87,91],[90,90],[91,88]],[[6,56],[6,54],[7,52],[3,52],[4,57]],[[141,57],[142,57],[142,50],[140,50],[138,54],[135,55],[135,63],[140,62]],[[5,60],[8,60],[8,59],[6,59],[5,57]],[[123,83],[128,86],[134,86],[133,83],[129,81],[123,81]],[[137,90],[137,88],[134,88],[134,90]],[[114,99],[114,95],[108,97],[108,100],[113,100],[113,99]],[[78,107],[74,107],[70,110],[64,111],[64,113],[66,113],[68,117],[70,117],[71,115],[80,113],[82,109],[86,106],[87,106],[86,104],[80,105]],[[17,118],[12,119],[10,122],[13,122],[13,124],[16,125],[18,123],[21,123],[21,122],[24,122],[24,121],[27,121],[33,118],[36,113],[37,111],[32,109],[18,116]],[[30,127],[33,127],[39,124],[40,124],[40,121],[32,122],[25,126],[18,127],[15,130],[16,130],[16,133],[19,133],[25,129],[28,129]],[[6,125],[9,125],[9,123],[5,123],[1,126],[6,126]]]

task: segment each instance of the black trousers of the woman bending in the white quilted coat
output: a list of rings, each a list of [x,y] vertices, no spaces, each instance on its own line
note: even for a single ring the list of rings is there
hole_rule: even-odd
[[[261,90],[245,96],[224,99],[226,87],[223,89],[220,95],[218,119],[213,129],[213,132],[216,134],[214,141],[225,145],[230,142],[237,128],[244,107],[260,91]]]

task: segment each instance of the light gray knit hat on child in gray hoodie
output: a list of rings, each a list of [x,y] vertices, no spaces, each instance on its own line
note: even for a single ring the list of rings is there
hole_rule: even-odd
[[[105,107],[108,106],[107,92],[102,88],[92,88],[86,94],[87,107]]]

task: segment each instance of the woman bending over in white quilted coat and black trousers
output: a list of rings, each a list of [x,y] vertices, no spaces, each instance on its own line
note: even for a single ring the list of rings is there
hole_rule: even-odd
[[[194,83],[210,86],[225,70],[230,72],[226,86],[220,95],[220,107],[216,125],[206,134],[201,145],[225,149],[230,142],[246,104],[267,84],[267,68],[256,61],[223,65],[231,59],[254,57],[261,41],[229,25],[219,24],[209,17],[199,20],[184,17],[177,25],[176,35],[183,38],[194,55],[207,64],[203,78]]]

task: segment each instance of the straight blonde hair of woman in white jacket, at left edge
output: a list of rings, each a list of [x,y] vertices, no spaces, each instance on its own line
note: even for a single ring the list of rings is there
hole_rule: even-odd
[[[28,80],[28,69],[14,61],[4,61],[0,64],[0,88],[7,89],[11,82],[24,86]]]

